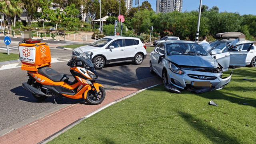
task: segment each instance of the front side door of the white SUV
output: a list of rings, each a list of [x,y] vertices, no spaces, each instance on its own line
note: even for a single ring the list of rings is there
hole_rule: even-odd
[[[114,49],[110,49],[110,46],[114,46]],[[117,62],[124,58],[123,39],[115,40],[108,45],[107,56],[108,62]]]

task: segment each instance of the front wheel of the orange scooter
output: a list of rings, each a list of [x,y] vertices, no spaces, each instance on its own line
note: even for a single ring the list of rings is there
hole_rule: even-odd
[[[96,93],[93,90],[89,90],[87,93],[87,96],[86,96],[87,102],[89,102],[90,104],[93,104],[93,105],[102,103],[106,96],[106,92],[103,87],[99,87],[98,94],[99,94],[100,98],[96,97]]]

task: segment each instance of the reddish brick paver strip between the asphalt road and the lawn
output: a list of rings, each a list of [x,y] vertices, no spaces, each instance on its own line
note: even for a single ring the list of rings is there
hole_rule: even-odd
[[[106,92],[105,100],[98,105],[88,105],[86,103],[71,104],[34,122],[26,124],[21,128],[0,136],[0,144],[36,144],[62,130],[76,120],[98,110],[102,106],[137,92],[138,90],[160,83],[162,83],[161,78],[155,77],[109,90]]]

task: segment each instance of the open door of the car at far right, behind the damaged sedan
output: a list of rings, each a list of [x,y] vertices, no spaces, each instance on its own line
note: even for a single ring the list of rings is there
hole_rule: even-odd
[[[245,67],[245,59],[252,48],[253,43],[245,43],[245,44],[238,44],[236,46],[230,47],[228,51],[230,52],[230,66],[240,66]],[[247,49],[247,51],[238,51],[236,48]]]

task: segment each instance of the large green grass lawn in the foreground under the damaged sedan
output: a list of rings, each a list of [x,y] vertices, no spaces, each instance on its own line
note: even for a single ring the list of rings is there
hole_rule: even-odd
[[[49,144],[255,144],[256,68],[232,70],[222,90],[173,94],[156,86],[94,114]],[[219,106],[208,105],[210,100]]]

